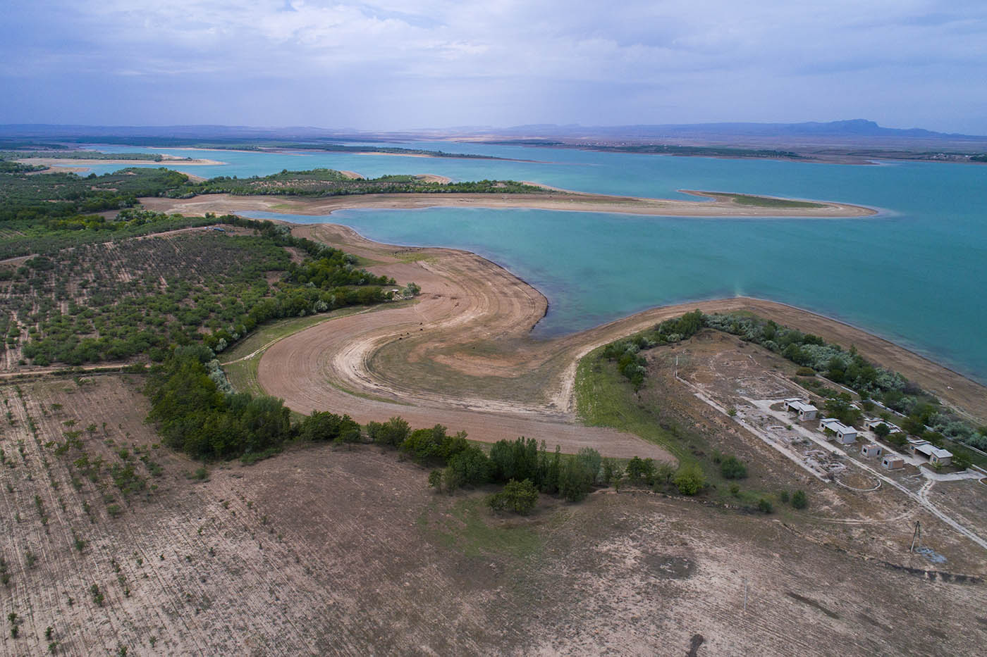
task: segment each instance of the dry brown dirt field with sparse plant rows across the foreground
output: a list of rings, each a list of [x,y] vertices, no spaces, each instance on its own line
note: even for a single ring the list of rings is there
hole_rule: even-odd
[[[371,447],[190,479],[195,464],[153,447],[139,384],[0,389],[0,652],[959,655],[987,641],[983,583],[845,551],[786,516],[598,491],[496,518],[484,491],[432,493]],[[74,430],[81,450],[47,446]],[[134,460],[139,492],[72,465],[128,463],[124,445],[161,468]]]

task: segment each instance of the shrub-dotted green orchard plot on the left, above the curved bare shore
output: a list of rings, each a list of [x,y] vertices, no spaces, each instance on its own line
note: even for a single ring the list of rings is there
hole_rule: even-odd
[[[163,354],[180,336],[236,324],[290,260],[264,238],[207,229],[32,258],[0,283],[6,365]]]

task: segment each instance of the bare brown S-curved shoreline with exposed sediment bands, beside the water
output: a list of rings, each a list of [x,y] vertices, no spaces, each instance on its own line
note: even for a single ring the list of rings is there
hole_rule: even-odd
[[[579,425],[572,383],[578,359],[593,348],[696,308],[749,310],[852,342],[875,361],[949,393],[943,397],[961,408],[983,411],[982,386],[886,340],[790,306],[748,298],[704,301],[536,340],[529,332],[545,314],[545,297],[479,255],[381,245],[330,224],[294,232],[381,262],[370,268],[422,288],[413,305],[342,317],[266,349],[258,381],[301,412],[332,409],[361,422],[401,415],[413,426],[441,423],[488,442],[523,435],[566,452],[592,446],[605,456],[672,460],[636,436]]]

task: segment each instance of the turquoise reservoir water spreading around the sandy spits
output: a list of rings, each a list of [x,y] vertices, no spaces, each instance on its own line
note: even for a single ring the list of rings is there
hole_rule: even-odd
[[[743,294],[849,322],[987,380],[987,167],[820,165],[446,142],[396,145],[542,162],[159,152],[229,163],[187,169],[199,176],[330,167],[366,176],[514,179],[639,196],[676,197],[681,196],[677,189],[691,188],[877,207],[882,211],[876,218],[848,220],[451,208],[293,218],[342,223],[383,242],[485,255],[549,298],[549,315],[537,328],[542,335],[588,328],[655,305]]]

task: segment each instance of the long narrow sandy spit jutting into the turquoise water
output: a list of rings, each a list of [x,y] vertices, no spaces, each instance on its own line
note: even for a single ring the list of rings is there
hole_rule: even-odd
[[[701,192],[694,192],[701,193]],[[414,209],[426,207],[535,208],[570,212],[615,212],[661,217],[806,217],[847,218],[873,216],[872,208],[849,203],[812,201],[819,207],[757,207],[741,205],[719,195],[714,200],[690,201],[604,194],[361,194],[308,198],[297,196],[234,196],[208,194],[187,199],[143,198],[150,209],[201,215],[205,212],[236,213],[261,210],[285,214],[329,215],[351,208]]]

